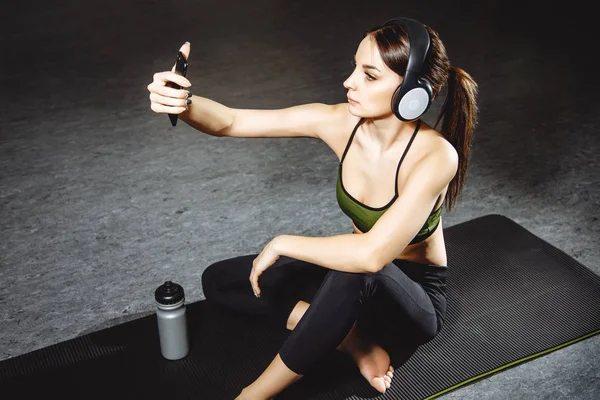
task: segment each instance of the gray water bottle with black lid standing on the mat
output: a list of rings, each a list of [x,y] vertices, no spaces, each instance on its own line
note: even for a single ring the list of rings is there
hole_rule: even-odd
[[[160,351],[168,360],[187,355],[189,342],[183,287],[166,281],[154,292]]]

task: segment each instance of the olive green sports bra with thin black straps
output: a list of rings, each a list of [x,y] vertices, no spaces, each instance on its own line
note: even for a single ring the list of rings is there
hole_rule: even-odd
[[[390,202],[387,205],[385,205],[383,207],[378,207],[378,208],[369,207],[365,204],[362,204],[361,202],[356,200],[354,197],[352,197],[352,195],[350,195],[350,193],[348,193],[346,191],[346,189],[344,188],[344,184],[342,183],[342,162],[344,162],[346,153],[348,153],[348,149],[350,148],[350,145],[352,144],[352,139],[354,139],[354,134],[356,133],[358,127],[361,125],[361,123],[363,121],[364,121],[364,119],[361,118],[361,120],[358,121],[358,123],[354,127],[354,130],[352,131],[352,135],[350,135],[350,140],[348,140],[348,144],[346,145],[346,149],[344,150],[344,154],[342,155],[342,159],[339,164],[339,173],[338,173],[337,186],[336,186],[336,197],[337,197],[338,204],[340,205],[340,208],[342,209],[344,214],[346,214],[347,216],[349,216],[352,219],[352,221],[354,222],[356,227],[361,232],[365,233],[365,232],[368,232],[373,227],[373,225],[375,225],[375,222],[377,222],[379,217],[381,217],[383,215],[383,213],[385,213],[387,211],[387,209],[390,208],[392,203],[398,198],[398,186],[395,185],[396,186],[396,188],[395,188],[396,194],[394,195],[392,200],[390,200]],[[402,158],[400,158],[400,162],[398,163],[398,168],[396,169],[396,180],[394,182],[398,182],[398,172],[400,171],[400,164],[402,164],[402,161],[404,160],[404,157],[406,156],[408,149],[410,148],[415,136],[417,135],[417,132],[419,131],[420,126],[421,126],[421,120],[417,121],[417,126],[415,128],[415,131],[414,131],[412,137],[410,138],[410,141],[408,142],[406,149],[404,150],[404,154],[402,154]],[[429,236],[431,236],[433,234],[433,232],[435,231],[435,229],[437,228],[437,226],[440,223],[440,217],[442,215],[442,206],[443,206],[443,203],[437,210],[435,210],[434,212],[431,213],[431,215],[429,215],[429,217],[427,218],[427,221],[425,221],[425,225],[423,225],[423,227],[421,228],[421,230],[419,231],[417,236],[415,236],[414,239],[409,244],[419,243],[419,242],[427,239]]]

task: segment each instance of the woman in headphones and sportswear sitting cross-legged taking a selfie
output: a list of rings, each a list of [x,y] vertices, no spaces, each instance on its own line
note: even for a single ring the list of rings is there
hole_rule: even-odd
[[[181,51],[189,57],[190,44]],[[402,347],[399,365],[442,327],[442,206],[451,210],[462,191],[477,85],[450,66],[438,34],[414,20],[370,29],[352,63],[344,82],[348,103],[334,105],[232,109],[166,87],[191,85],[174,69],[154,74],[148,85],[153,111],[178,114],[202,132],[318,138],[340,160],[337,201],[354,232],[280,235],[260,254],[216,262],[202,274],[207,301],[291,330],[271,364],[237,399],[271,398],[335,350],[350,355],[383,393],[393,376],[393,344]],[[444,84],[438,132],[420,117]]]

